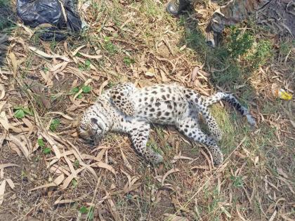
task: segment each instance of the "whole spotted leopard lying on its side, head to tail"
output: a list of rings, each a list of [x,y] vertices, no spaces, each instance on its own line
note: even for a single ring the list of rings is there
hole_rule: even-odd
[[[146,145],[150,123],[172,125],[190,140],[205,144],[214,163],[221,164],[223,154],[217,145],[221,130],[208,109],[221,99],[247,116],[249,123],[255,124],[248,110],[226,93],[218,92],[204,98],[192,89],[176,84],[136,88],[132,83],[123,83],[105,91],[93,106],[86,109],[79,123],[79,136],[96,143],[108,131],[128,133],[140,155],[152,163],[159,163],[163,157]],[[199,113],[208,124],[211,136],[199,128]]]

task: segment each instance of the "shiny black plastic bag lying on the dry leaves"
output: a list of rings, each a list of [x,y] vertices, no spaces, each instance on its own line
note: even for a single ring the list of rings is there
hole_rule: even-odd
[[[17,0],[16,11],[22,22],[29,27],[45,23],[53,26],[39,31],[43,40],[61,41],[67,34],[81,30],[82,22],[72,0]]]

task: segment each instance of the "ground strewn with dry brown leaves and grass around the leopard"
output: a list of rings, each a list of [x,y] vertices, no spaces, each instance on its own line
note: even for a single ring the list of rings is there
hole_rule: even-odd
[[[294,40],[249,20],[213,50],[204,27],[216,5],[195,8],[171,18],[162,1],[93,1],[79,38],[40,41],[20,23],[1,32],[1,220],[295,219],[294,100],[270,90],[294,93]],[[243,53],[245,33],[254,42]],[[125,135],[91,149],[77,139],[77,118],[120,81],[230,91],[258,126],[228,105],[212,107],[224,133],[219,168],[173,128],[152,132],[148,145],[164,154],[155,168]]]

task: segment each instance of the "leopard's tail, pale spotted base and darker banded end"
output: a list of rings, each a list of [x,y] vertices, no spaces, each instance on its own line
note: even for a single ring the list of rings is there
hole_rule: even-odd
[[[241,103],[237,100],[237,98],[235,98],[234,95],[218,92],[209,98],[204,98],[204,103],[208,107],[220,100],[225,100],[226,102],[230,103],[230,105],[235,107],[235,109],[237,109],[238,112],[240,112],[243,116],[247,117],[247,121],[251,125],[253,126],[256,125],[256,121],[253,118],[253,116],[251,116],[251,114],[249,113],[249,110],[246,107],[242,106]]]

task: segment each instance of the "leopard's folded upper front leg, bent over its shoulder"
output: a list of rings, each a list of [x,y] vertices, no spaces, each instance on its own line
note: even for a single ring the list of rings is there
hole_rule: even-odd
[[[129,99],[136,87],[132,83],[121,83],[110,90],[110,95],[114,105],[127,116],[133,116],[135,107],[133,101]]]

